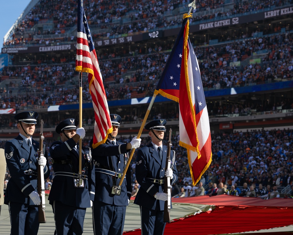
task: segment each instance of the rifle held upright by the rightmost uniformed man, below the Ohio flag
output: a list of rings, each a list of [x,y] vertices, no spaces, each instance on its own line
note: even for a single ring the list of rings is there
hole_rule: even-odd
[[[170,128],[165,171],[171,167],[171,159],[170,159],[170,153],[171,153],[171,147],[172,147],[171,136],[172,136],[172,129]],[[170,223],[171,222],[171,218],[170,218],[171,185],[170,185],[170,178],[166,176],[164,178],[164,193],[168,194],[168,200],[165,201],[165,205],[164,205],[164,222]]]

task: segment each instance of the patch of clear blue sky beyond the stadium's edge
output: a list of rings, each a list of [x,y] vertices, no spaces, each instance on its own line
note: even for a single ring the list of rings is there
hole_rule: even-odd
[[[14,24],[18,16],[30,3],[30,0],[1,0],[1,14],[0,14],[0,42],[3,45],[3,37]]]

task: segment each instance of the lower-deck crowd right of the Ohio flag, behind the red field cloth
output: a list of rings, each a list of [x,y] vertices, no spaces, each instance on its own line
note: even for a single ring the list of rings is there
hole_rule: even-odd
[[[293,131],[288,129],[214,135],[213,161],[200,180],[204,186],[207,186],[205,193],[201,195],[230,194],[272,198],[273,194],[267,194],[276,191],[278,187],[293,186],[292,134]],[[181,167],[178,185],[183,186],[185,197],[196,196],[200,185],[191,186],[191,177],[187,177],[189,166],[186,162],[186,151],[184,152],[184,149],[178,145],[176,147],[177,153],[183,150],[180,152],[182,156],[177,158],[178,163],[176,162]],[[185,168],[182,168],[183,166]],[[242,190],[238,186],[243,187]],[[235,190],[238,190],[237,194]],[[175,195],[177,191],[178,189],[173,194]],[[254,193],[251,194],[251,191]]]

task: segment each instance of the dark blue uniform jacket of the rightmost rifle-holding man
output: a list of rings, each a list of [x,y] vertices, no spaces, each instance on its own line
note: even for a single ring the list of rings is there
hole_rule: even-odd
[[[164,192],[164,184],[154,183],[151,179],[164,179],[165,166],[167,157],[167,147],[163,146],[162,162],[159,155],[152,144],[142,147],[137,152],[135,175],[136,180],[140,184],[140,188],[134,199],[134,204],[146,207],[152,210],[164,210],[165,202],[156,200],[154,194],[156,192]],[[173,164],[173,179],[170,184],[176,183],[178,180],[178,172],[173,160],[173,151],[171,151],[171,165]],[[148,179],[151,178],[151,179]]]

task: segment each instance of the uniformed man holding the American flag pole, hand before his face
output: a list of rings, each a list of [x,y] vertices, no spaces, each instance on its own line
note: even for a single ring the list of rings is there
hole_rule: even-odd
[[[83,127],[77,128],[74,118],[60,122],[56,132],[61,141],[55,141],[50,147],[55,176],[49,194],[55,219],[55,234],[75,234],[83,232],[86,208],[91,207],[94,199],[94,189],[88,187],[93,162],[89,147],[81,150],[81,179],[79,178],[79,145],[86,132]],[[94,187],[94,183],[91,183]]]

